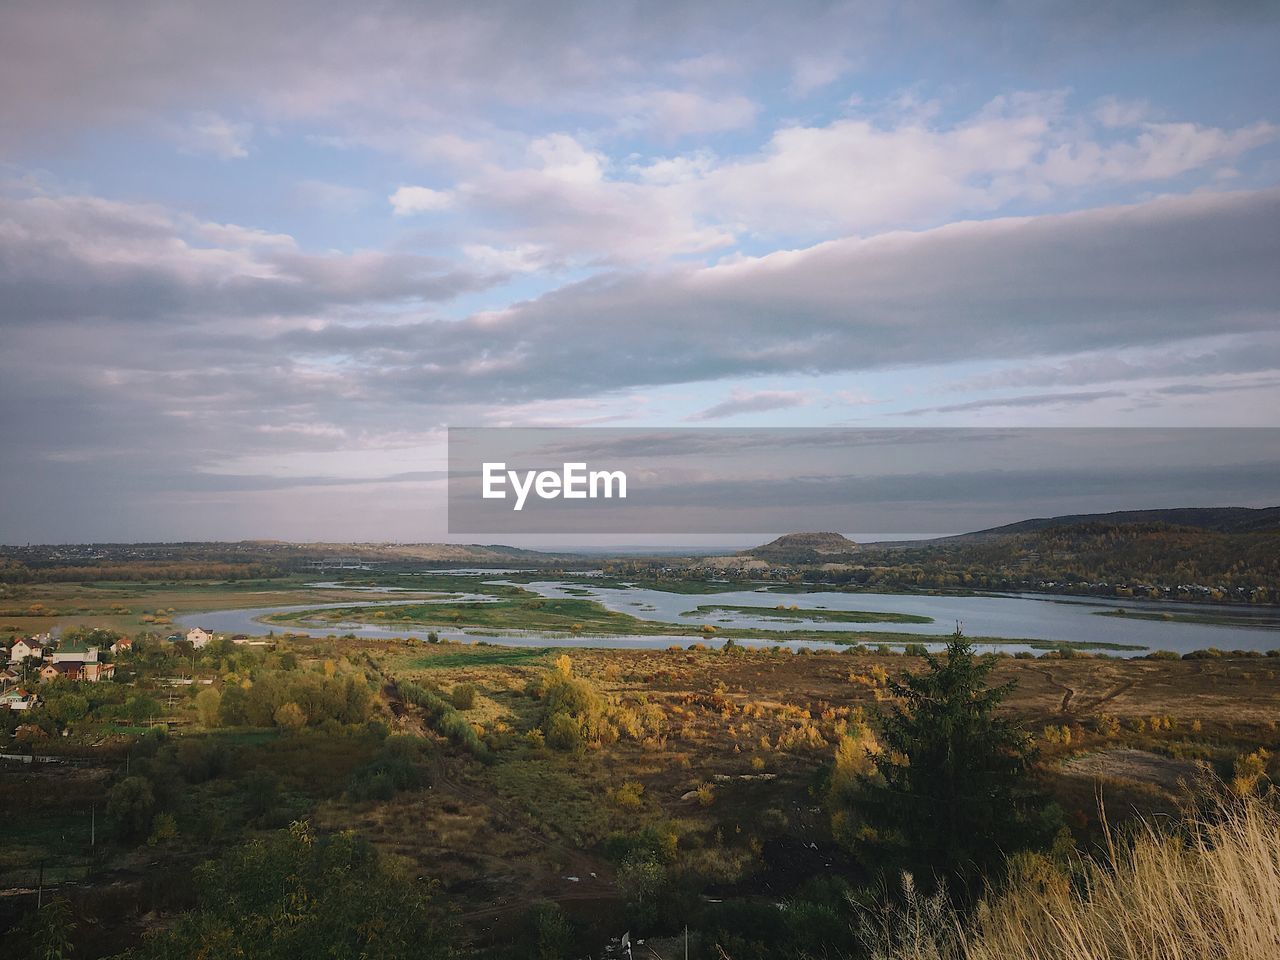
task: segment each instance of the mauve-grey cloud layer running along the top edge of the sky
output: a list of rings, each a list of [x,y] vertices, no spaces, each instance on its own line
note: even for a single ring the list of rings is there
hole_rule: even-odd
[[[662,110],[660,97],[714,91],[741,63],[794,74],[801,86],[815,63],[922,50],[933,59],[936,49],[961,69],[995,60],[1043,73],[1107,51],[1248,36],[1276,19],[1274,4],[1197,0],[1032,9],[983,0],[8,4],[0,88],[20,95],[0,101],[0,129],[29,136],[172,110],[218,113],[234,131],[243,120],[220,115],[228,102],[270,119],[343,116],[352,129],[383,131],[462,119],[481,104],[628,116],[637,93],[658,95],[641,114]],[[704,128],[723,123],[710,111]],[[237,142],[212,146],[234,155]]]

